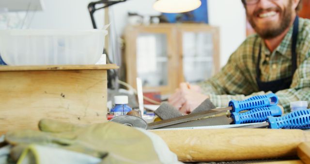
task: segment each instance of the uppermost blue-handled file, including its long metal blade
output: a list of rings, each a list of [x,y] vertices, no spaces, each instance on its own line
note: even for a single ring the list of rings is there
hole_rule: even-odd
[[[235,101],[232,100],[229,103],[229,107],[226,108],[216,108],[208,111],[203,111],[200,113],[190,114],[190,115],[183,115],[179,117],[174,117],[171,119],[166,119],[158,122],[153,122],[148,124],[148,129],[158,129],[158,128],[174,128],[173,125],[178,124],[178,126],[185,127],[185,124],[188,122],[193,122],[196,120],[196,122],[203,122],[202,119],[209,118],[215,115],[219,115],[222,113],[226,113],[228,111],[233,112],[239,112],[239,111],[245,111],[245,110],[252,110],[255,108],[262,108],[262,107],[269,107],[269,106],[276,106],[278,104],[278,97],[275,94],[267,94],[263,96],[254,96],[251,98],[248,98],[243,101]],[[277,107],[275,107],[277,108]],[[211,126],[211,125],[223,125],[223,124],[229,124],[231,121],[227,120],[226,116],[223,116],[224,119],[226,118],[226,121],[221,121],[220,119],[212,119],[210,121],[212,124],[204,125],[201,124],[200,126]],[[208,119],[211,120],[211,119]],[[206,122],[206,121],[204,121]],[[199,124],[197,124],[199,125]]]

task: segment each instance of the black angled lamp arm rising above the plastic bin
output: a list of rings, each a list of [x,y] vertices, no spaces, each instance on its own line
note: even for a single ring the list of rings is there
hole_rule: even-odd
[[[89,14],[90,14],[91,19],[92,19],[93,28],[94,29],[97,28],[95,19],[93,17],[93,13],[95,11],[107,8],[107,7],[111,6],[111,5],[114,5],[114,4],[120,3],[120,2],[124,2],[124,1],[126,1],[126,0],[112,0],[112,1],[109,1],[109,0],[98,0],[98,1],[90,2],[88,4],[88,11],[89,11]],[[104,4],[104,6],[103,7],[99,7],[99,8],[95,8],[96,4]]]

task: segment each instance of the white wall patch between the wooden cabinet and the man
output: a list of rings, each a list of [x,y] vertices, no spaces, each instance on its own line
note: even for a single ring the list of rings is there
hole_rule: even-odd
[[[220,28],[220,65],[224,66],[246,38],[246,14],[241,0],[208,0],[209,23]]]

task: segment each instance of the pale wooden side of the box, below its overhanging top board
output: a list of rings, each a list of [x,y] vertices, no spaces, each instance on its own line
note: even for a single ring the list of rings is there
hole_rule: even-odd
[[[75,66],[57,69],[71,68]],[[79,124],[107,121],[107,67],[93,68],[0,71],[0,134],[37,129],[41,118]]]

